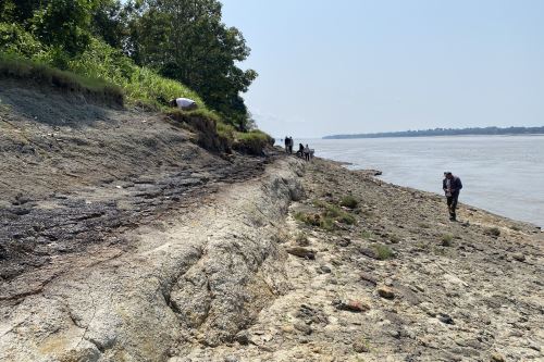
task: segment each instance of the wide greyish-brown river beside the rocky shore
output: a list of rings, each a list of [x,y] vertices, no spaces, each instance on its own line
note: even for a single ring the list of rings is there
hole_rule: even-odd
[[[442,194],[443,173],[452,171],[463,184],[460,202],[544,226],[544,135],[301,141],[318,157],[431,192]]]

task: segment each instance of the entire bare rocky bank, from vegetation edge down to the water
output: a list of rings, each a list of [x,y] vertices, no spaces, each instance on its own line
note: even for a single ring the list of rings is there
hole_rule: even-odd
[[[544,359],[535,226],[26,92],[0,91],[0,361]]]

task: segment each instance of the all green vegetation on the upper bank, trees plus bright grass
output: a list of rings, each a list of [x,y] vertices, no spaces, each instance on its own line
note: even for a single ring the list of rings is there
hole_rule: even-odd
[[[190,98],[199,107],[187,117],[213,122],[228,148],[261,153],[272,141],[246,133],[254,122],[239,95],[257,73],[236,66],[249,48],[218,0],[4,0],[0,54],[2,77],[161,111]]]

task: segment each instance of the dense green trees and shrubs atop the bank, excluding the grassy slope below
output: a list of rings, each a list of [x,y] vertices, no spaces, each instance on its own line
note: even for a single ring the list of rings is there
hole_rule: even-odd
[[[218,0],[0,0],[2,52],[69,68],[89,49],[111,54],[106,47],[187,85],[238,128],[250,121],[240,93],[257,73],[237,66],[250,49]]]

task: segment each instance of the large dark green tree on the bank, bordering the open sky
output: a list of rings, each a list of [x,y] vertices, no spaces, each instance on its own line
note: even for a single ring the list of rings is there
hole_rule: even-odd
[[[134,5],[134,4],[133,4]],[[131,22],[132,57],[200,93],[239,128],[248,121],[240,92],[257,77],[243,71],[250,49],[242,33],[222,23],[217,0],[147,0]]]

